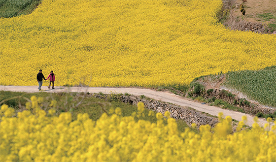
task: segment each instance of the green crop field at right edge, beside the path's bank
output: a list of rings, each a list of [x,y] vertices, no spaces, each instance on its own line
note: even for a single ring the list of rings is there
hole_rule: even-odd
[[[276,107],[276,66],[226,73],[224,85],[261,104]],[[248,103],[247,103],[248,104]]]

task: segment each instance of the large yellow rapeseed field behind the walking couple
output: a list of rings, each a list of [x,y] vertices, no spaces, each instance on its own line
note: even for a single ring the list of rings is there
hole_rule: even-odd
[[[43,0],[30,15],[0,19],[0,85],[35,85],[39,69],[53,70],[59,86],[149,86],[276,65],[276,36],[225,29],[221,6]]]

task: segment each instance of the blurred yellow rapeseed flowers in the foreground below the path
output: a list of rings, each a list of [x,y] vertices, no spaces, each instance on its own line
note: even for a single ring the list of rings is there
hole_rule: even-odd
[[[31,97],[23,112],[13,116],[13,108],[0,108],[1,162],[275,162],[276,122],[271,118],[264,128],[254,123],[252,129],[231,134],[231,117],[222,118],[210,132],[201,126],[200,133],[187,128],[177,130],[170,113],[156,114],[157,122],[135,121],[144,115],[138,103],[137,115],[122,117],[120,108],[97,121],[88,114],[78,114],[72,121],[69,112],[55,115],[40,109],[41,98]],[[54,102],[52,102],[54,103]],[[257,118],[257,117],[256,117]],[[168,124],[164,124],[167,120]],[[255,119],[257,120],[257,119]]]

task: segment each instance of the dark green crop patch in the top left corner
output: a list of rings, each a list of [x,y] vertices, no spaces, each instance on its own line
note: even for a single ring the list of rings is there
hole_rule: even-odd
[[[0,17],[10,18],[31,13],[41,0],[0,0]]]

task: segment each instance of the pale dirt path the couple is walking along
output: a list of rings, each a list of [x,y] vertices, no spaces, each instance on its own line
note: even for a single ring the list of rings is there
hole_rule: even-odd
[[[244,114],[241,112],[221,109],[219,107],[214,106],[208,106],[205,104],[201,104],[198,102],[194,102],[192,100],[189,100],[187,98],[183,98],[177,95],[174,95],[172,93],[166,93],[166,92],[157,92],[149,89],[139,89],[139,88],[110,88],[110,87],[70,87],[70,89],[66,87],[56,87],[55,90],[48,90],[46,86],[42,86],[42,89],[44,89],[44,92],[49,93],[57,93],[57,92],[84,92],[84,93],[99,93],[102,92],[104,94],[110,94],[110,93],[128,93],[135,96],[144,95],[146,97],[150,97],[156,100],[161,100],[164,102],[170,102],[177,104],[179,106],[186,106],[186,107],[192,107],[198,111],[206,112],[210,115],[217,116],[219,112],[223,112],[225,116],[231,116],[233,119],[237,121],[241,121],[242,116],[246,115],[248,122],[248,126],[252,126],[254,123],[253,115]],[[14,92],[38,92],[37,86],[0,86],[0,90],[4,91],[14,91]],[[259,119],[259,125],[264,126],[264,124],[267,123],[265,119]]]

